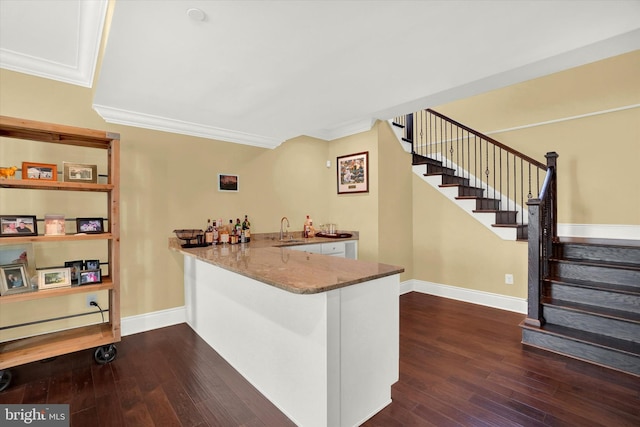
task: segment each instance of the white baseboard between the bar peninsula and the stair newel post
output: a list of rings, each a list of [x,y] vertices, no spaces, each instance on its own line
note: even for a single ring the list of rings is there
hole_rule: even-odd
[[[425,282],[423,280],[413,279],[402,282],[402,284],[400,285],[400,294],[409,292],[404,291],[409,282],[411,282],[409,291],[450,298],[457,301],[470,302],[472,304],[499,308],[501,310],[514,311],[516,313],[527,313],[526,298],[509,297],[506,295],[493,294],[490,292],[476,291],[473,289],[458,288],[456,286]]]

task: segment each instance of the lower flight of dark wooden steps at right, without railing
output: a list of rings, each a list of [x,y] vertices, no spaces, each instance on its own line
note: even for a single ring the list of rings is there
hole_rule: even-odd
[[[561,239],[522,343],[640,376],[640,242]]]

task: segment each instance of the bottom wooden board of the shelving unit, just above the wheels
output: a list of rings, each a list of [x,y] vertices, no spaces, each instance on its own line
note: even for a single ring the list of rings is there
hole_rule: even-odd
[[[120,341],[111,324],[83,326],[0,343],[0,369]]]

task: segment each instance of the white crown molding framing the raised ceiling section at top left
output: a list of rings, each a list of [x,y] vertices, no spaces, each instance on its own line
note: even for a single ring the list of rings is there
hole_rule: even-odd
[[[100,51],[107,5],[107,0],[78,0],[79,14],[75,20],[74,40],[77,46],[74,61],[61,63],[0,48],[0,67],[64,83],[91,87]],[[65,22],[61,22],[61,25],[65,25]]]

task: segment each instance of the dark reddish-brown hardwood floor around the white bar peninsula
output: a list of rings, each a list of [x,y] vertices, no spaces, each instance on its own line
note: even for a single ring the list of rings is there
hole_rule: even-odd
[[[523,315],[400,297],[400,381],[365,426],[640,426],[640,378],[523,349]],[[289,426],[187,325],[12,369],[0,403],[69,403],[71,425]]]

